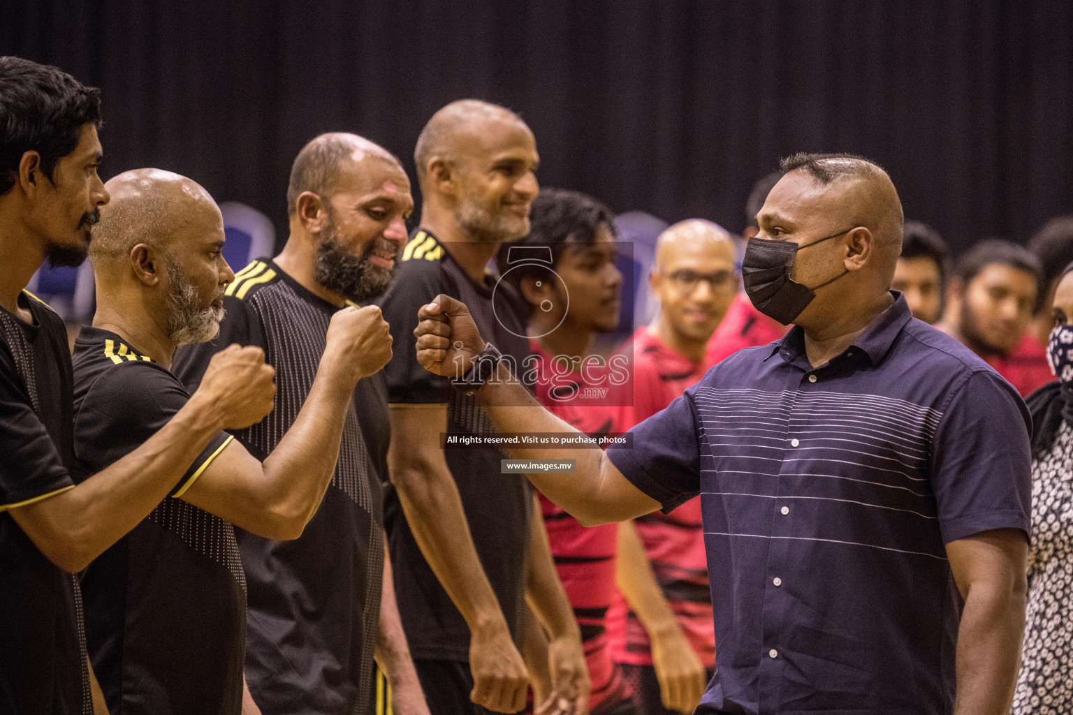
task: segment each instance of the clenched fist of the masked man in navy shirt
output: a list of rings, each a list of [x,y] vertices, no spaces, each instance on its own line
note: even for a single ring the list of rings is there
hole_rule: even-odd
[[[484,352],[484,340],[466,303],[442,293],[417,311],[417,362],[433,375],[459,377],[474,357]]]

